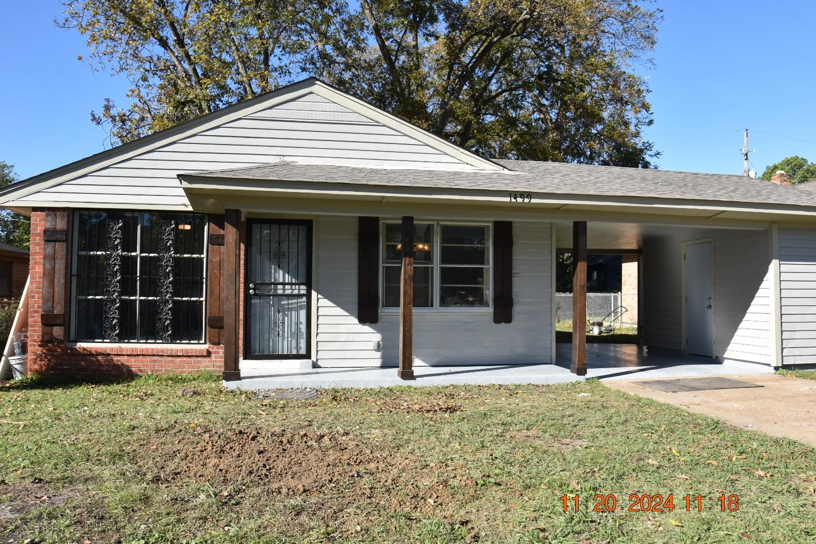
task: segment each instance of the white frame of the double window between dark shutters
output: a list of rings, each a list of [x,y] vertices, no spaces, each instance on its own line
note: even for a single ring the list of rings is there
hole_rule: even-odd
[[[400,312],[400,308],[397,307],[389,307],[383,306],[383,293],[384,293],[384,278],[383,278],[383,268],[387,266],[383,262],[383,246],[384,246],[384,235],[385,235],[385,225],[387,224],[401,224],[400,219],[382,219],[379,222],[379,285],[378,285],[378,297],[379,297],[379,312],[381,314],[389,315],[389,314],[398,314]],[[476,314],[492,314],[493,313],[493,223],[492,222],[473,222],[473,221],[441,221],[438,219],[415,219],[414,223],[431,223],[433,225],[433,263],[430,267],[433,270],[433,307],[414,307],[414,313],[476,313]],[[479,306],[479,307],[467,307],[467,306],[440,306],[439,299],[440,299],[440,285],[441,285],[441,268],[442,264],[440,262],[441,257],[441,227],[445,225],[455,225],[455,226],[473,226],[473,227],[486,227],[487,228],[487,236],[488,236],[488,251],[487,251],[487,259],[488,263],[487,268],[489,271],[489,279],[488,279],[488,304],[487,306]],[[394,267],[400,267],[401,265],[395,264],[391,265]],[[466,265],[466,264],[446,264],[446,267],[451,268],[472,268],[473,266],[479,265]]]

